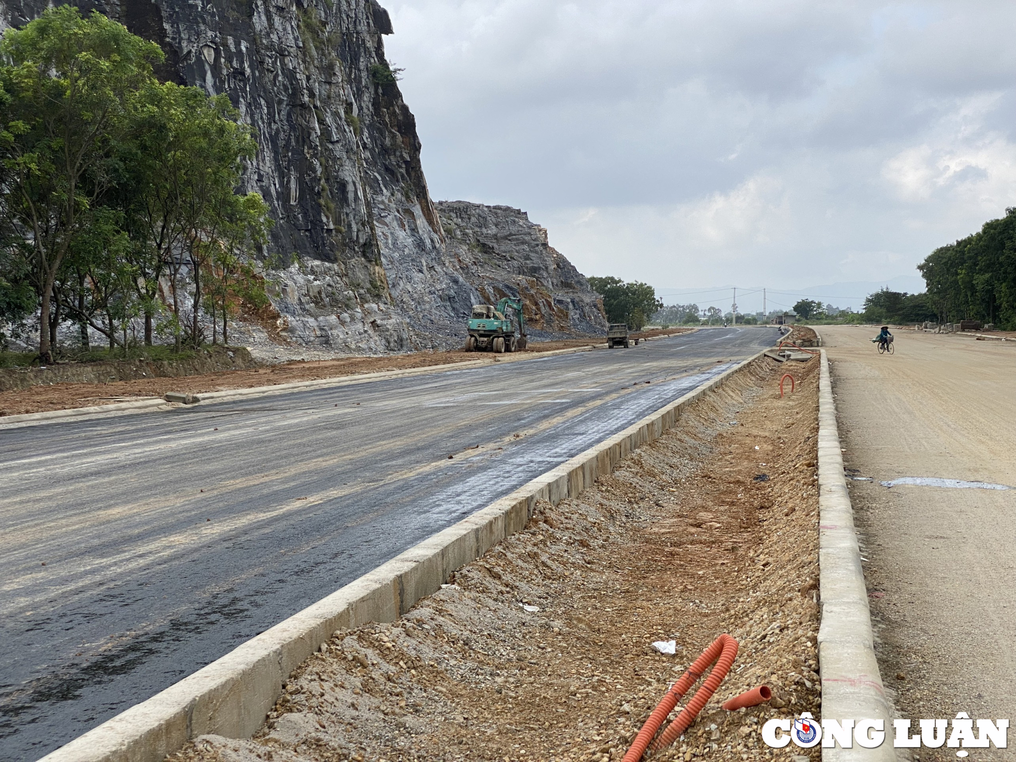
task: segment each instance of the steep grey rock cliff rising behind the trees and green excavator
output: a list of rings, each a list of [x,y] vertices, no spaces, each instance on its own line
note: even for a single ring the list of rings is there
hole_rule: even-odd
[[[0,0],[0,24],[47,4]],[[227,93],[257,130],[245,190],[275,220],[266,264],[292,264],[267,273],[278,330],[254,335],[367,353],[444,347],[464,338],[473,303],[516,293],[537,327],[602,327],[585,279],[523,212],[454,202],[441,220],[376,0],[73,4],[157,42],[161,77]]]

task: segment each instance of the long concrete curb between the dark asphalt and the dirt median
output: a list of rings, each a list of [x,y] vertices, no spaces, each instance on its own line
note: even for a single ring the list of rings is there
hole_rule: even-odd
[[[335,630],[398,619],[417,600],[440,589],[451,572],[524,528],[537,500],[557,504],[579,495],[638,447],[658,439],[683,408],[762,354],[410,548],[41,762],[161,762],[203,734],[250,737],[264,722],[290,673]]]

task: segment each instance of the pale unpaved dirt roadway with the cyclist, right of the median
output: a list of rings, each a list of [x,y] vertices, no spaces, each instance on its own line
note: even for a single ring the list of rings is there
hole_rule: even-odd
[[[881,483],[1016,487],[1016,344],[898,330],[895,355],[883,356],[869,341],[876,332],[821,329],[883,680],[900,716],[1011,719],[1016,490]]]

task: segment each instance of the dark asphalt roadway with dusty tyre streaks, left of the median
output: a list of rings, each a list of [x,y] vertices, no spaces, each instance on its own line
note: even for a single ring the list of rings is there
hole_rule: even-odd
[[[776,336],[0,431],[0,759],[38,759]]]

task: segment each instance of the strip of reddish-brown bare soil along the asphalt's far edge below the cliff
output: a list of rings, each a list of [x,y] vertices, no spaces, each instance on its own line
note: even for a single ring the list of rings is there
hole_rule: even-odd
[[[671,335],[687,330],[689,329],[672,329],[665,332],[661,331],[658,334]],[[641,334],[636,335],[641,337]],[[653,331],[652,335],[657,335],[657,332]],[[598,341],[597,337],[585,337],[564,341],[532,342],[519,354],[538,354],[576,346],[589,346]],[[53,383],[26,389],[0,391],[0,417],[88,407],[123,401],[132,397],[161,397],[170,391],[198,394],[224,389],[247,389],[252,386],[316,381],[322,378],[424,368],[446,363],[466,363],[491,357],[488,353],[468,353],[463,350],[417,352],[383,357],[351,357],[310,362],[294,361],[260,368],[201,373],[176,378],[135,378],[124,381],[110,380],[107,383]],[[135,365],[138,364],[135,363]],[[171,374],[167,373],[166,375]]]

